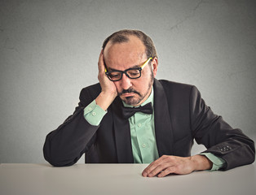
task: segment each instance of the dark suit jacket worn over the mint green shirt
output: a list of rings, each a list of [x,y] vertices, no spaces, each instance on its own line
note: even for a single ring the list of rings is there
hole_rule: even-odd
[[[254,141],[214,115],[192,85],[154,80],[154,112],[159,156],[191,155],[193,140],[227,162],[230,169],[254,162]],[[44,157],[54,166],[70,166],[86,153],[86,163],[133,163],[130,124],[117,97],[99,126],[90,125],[83,109],[100,93],[100,85],[82,89],[73,115],[46,136]]]

